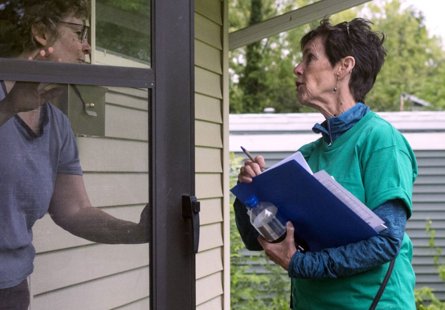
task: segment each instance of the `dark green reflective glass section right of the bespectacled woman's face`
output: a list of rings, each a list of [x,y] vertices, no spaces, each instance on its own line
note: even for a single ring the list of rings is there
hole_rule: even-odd
[[[95,1],[94,62],[150,66],[150,0]]]

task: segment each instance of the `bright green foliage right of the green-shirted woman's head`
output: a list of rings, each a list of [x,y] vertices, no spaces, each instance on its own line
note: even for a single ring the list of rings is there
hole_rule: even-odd
[[[385,1],[382,6],[371,3],[368,8],[374,29],[387,37],[387,58],[366,103],[373,110],[398,111],[405,91],[430,101],[433,108],[443,107],[445,84],[435,82],[445,79],[445,53],[437,38],[428,37],[422,12],[413,7],[401,10],[399,0]]]

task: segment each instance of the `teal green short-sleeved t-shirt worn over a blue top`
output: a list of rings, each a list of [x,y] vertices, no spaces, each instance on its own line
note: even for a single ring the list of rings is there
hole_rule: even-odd
[[[325,170],[369,209],[399,198],[411,216],[414,153],[403,135],[377,114],[368,112],[330,146],[320,138],[299,151],[313,172]],[[411,259],[412,243],[405,233],[377,309],[415,309]],[[294,309],[368,309],[388,265],[336,279],[293,278]]]

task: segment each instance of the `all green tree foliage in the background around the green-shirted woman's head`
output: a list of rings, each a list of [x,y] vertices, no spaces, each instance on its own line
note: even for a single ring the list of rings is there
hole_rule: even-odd
[[[248,26],[251,1],[257,6],[261,2],[263,20],[314,2],[230,0],[230,31]],[[366,96],[366,104],[375,111],[398,111],[401,93],[405,91],[431,102],[431,109],[443,109],[445,52],[440,39],[428,35],[422,12],[414,7],[402,9],[401,0],[381,0],[334,14],[331,22],[355,17],[370,19],[374,22],[373,29],[387,37],[384,46],[388,55],[373,89]],[[316,24],[314,21],[312,27]],[[310,28],[304,25],[251,44],[255,47],[249,45],[230,51],[231,113],[260,113],[265,107],[273,107],[280,113],[313,112],[297,103],[293,74],[301,60],[300,38]]]

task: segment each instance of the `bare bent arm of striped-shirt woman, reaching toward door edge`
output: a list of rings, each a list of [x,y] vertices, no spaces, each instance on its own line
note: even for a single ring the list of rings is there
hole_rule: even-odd
[[[48,212],[57,225],[90,241],[108,244],[148,242],[148,205],[138,224],[117,219],[91,206],[84,179],[79,175],[57,175]]]

